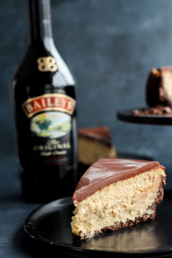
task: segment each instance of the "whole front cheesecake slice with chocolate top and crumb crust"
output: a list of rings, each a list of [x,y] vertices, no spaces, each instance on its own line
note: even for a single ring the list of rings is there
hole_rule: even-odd
[[[165,168],[156,161],[99,159],[73,193],[73,236],[83,240],[153,220],[165,179]]]

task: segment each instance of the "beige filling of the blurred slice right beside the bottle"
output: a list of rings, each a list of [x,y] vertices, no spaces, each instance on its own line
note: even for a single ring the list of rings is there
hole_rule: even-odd
[[[78,162],[90,165],[100,158],[116,158],[115,147],[109,148],[106,144],[101,144],[99,141],[79,137]]]

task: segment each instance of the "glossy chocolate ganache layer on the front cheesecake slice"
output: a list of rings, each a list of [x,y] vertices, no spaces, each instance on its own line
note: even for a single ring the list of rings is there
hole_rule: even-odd
[[[73,201],[82,201],[107,185],[159,167],[162,166],[157,161],[101,158],[79,180]]]

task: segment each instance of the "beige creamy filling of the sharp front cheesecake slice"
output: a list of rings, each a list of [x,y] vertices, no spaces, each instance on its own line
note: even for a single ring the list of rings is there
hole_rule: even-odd
[[[165,176],[162,168],[146,171],[98,190],[78,206],[74,202],[76,208],[71,222],[72,232],[75,235],[87,235],[88,238],[115,222],[125,223],[145,213],[151,214],[148,207],[156,198],[161,175]]]

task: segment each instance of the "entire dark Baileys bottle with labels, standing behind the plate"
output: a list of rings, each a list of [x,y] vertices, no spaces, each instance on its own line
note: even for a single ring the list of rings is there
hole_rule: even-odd
[[[54,45],[50,7],[50,0],[28,0],[30,41],[10,83],[27,202],[71,196],[76,187],[76,86]]]

